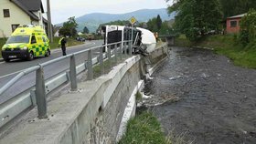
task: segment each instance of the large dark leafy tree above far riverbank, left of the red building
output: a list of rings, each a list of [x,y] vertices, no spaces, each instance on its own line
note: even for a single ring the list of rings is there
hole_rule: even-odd
[[[168,1],[168,0],[167,0]],[[219,0],[173,0],[168,12],[176,12],[175,28],[186,34],[189,40],[197,41],[209,31],[221,27],[222,11]]]

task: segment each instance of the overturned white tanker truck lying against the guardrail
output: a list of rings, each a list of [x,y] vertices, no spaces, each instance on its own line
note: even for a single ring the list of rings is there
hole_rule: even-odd
[[[129,26],[102,26],[101,29],[105,35],[104,45],[131,40],[133,34],[133,54],[146,56],[155,49],[155,36],[147,29]]]

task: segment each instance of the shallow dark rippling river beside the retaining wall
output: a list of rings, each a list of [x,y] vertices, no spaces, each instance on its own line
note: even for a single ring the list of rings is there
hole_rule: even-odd
[[[204,49],[173,47],[144,88],[145,105],[174,131],[198,144],[256,143],[256,70],[235,67]],[[163,103],[163,101],[165,101]]]

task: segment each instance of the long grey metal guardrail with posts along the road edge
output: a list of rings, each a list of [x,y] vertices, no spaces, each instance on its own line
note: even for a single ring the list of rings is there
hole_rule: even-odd
[[[120,46],[120,47],[118,47]],[[107,52],[103,53],[103,48],[107,48]],[[98,57],[92,57],[92,51],[100,49],[100,55]],[[35,106],[37,104],[37,114],[38,118],[48,118],[47,116],[47,94],[57,87],[61,86],[65,82],[70,82],[71,91],[77,91],[78,82],[77,75],[84,70],[88,70],[88,79],[93,79],[93,65],[99,64],[101,67],[101,74],[103,74],[103,61],[104,59],[113,58],[115,63],[117,63],[117,57],[122,57],[122,55],[129,55],[127,50],[129,49],[129,54],[132,52],[132,41],[123,41],[118,43],[113,43],[104,46],[95,46],[89,49],[85,49],[73,54],[69,54],[65,57],[59,57],[50,60],[43,64],[38,64],[35,67],[30,67],[22,72],[20,72],[16,77],[11,79],[4,87],[0,88],[0,97],[3,93],[13,86],[19,79],[27,76],[32,72],[36,72],[36,86],[31,87],[29,92],[22,92],[21,94],[11,98],[5,103],[0,105],[0,128],[4,126],[8,121],[15,118],[25,109]],[[119,50],[119,52],[118,52]],[[82,55],[87,52],[87,61],[84,64],[76,66],[75,56]],[[124,53],[123,53],[124,52]],[[69,72],[61,73],[58,76],[50,77],[48,79],[44,78],[44,67],[63,61],[69,58]]]

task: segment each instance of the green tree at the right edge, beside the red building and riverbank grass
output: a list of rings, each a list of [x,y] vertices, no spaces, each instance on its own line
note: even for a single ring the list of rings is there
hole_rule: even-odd
[[[240,42],[246,46],[256,39],[256,11],[251,9],[240,20]]]

